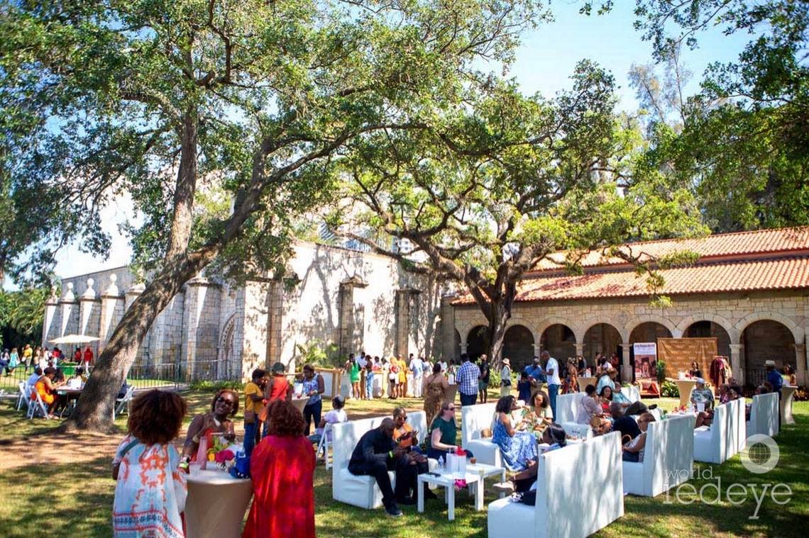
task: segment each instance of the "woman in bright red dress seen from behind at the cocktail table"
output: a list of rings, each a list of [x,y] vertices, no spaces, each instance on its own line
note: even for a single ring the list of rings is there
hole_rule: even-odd
[[[289,401],[270,402],[268,435],[250,458],[253,502],[242,538],[314,538],[315,449],[305,425]]]

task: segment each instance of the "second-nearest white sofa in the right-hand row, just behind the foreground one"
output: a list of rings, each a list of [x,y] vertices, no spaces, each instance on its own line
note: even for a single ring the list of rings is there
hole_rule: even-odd
[[[624,491],[656,497],[688,481],[694,463],[694,418],[691,415],[650,422],[643,461],[624,461]]]

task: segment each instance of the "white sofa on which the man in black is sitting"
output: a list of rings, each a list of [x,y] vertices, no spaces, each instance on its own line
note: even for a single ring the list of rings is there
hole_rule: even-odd
[[[373,510],[382,506],[382,492],[374,477],[357,476],[349,472],[349,460],[362,435],[383,421],[383,417],[363,418],[335,424],[332,429],[332,498],[353,506]],[[407,422],[418,431],[418,442],[427,435],[424,411],[410,411]],[[396,485],[396,473],[388,472],[391,485]]]

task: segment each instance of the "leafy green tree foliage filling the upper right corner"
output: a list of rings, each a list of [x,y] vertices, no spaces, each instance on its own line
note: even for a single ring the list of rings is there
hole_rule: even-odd
[[[631,75],[649,118],[646,166],[692,188],[715,231],[809,224],[809,4],[638,0],[636,15],[666,65],[665,83],[650,66]],[[697,47],[706,27],[752,37],[684,99],[679,50]]]

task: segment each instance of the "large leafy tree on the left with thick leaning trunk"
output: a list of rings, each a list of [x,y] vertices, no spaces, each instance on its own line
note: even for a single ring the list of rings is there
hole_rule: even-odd
[[[507,64],[541,16],[532,0],[23,0],[2,11],[2,106],[20,118],[2,156],[12,191],[55,193],[53,209],[76,215],[57,241],[101,250],[98,212],[112,197],[128,192],[144,215],[132,231],[150,276],[65,424],[79,430],[111,426],[138,347],[187,280],[217,257],[233,273],[277,261],[290,216],[328,197],[321,171],[341,148],[424,128],[481,79],[474,62]],[[198,190],[231,207],[205,211]]]

